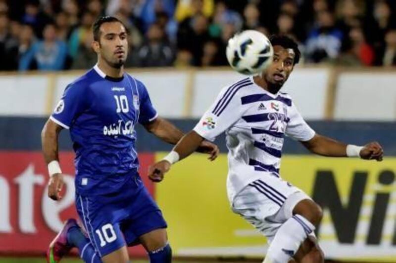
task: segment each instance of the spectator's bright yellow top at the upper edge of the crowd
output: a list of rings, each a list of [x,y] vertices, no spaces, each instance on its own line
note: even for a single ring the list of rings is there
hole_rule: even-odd
[[[178,22],[202,14],[211,17],[214,11],[214,0],[178,0],[175,17]]]

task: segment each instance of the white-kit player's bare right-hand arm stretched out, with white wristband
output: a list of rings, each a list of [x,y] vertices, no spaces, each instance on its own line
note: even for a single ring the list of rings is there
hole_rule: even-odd
[[[316,134],[311,140],[301,142],[312,153],[330,157],[347,157],[347,145],[326,136]],[[351,146],[354,148],[354,146]],[[365,160],[382,161],[384,151],[378,142],[371,142],[366,144],[361,149],[358,149],[358,155]]]

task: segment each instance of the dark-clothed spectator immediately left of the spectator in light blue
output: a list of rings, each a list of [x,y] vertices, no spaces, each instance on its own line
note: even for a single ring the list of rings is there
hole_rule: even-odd
[[[34,42],[34,32],[30,25],[21,25],[15,45],[6,50],[6,70],[18,70],[20,59],[26,54]]]

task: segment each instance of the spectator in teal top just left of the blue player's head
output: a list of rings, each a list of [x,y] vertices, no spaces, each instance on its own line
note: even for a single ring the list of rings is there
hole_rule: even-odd
[[[77,55],[80,44],[83,44],[87,36],[91,33],[94,20],[94,14],[85,12],[81,18],[81,25],[73,30],[68,42],[69,54],[73,59]]]

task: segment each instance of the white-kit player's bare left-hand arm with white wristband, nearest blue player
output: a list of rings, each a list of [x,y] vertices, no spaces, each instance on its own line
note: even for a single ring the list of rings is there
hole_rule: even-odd
[[[188,156],[190,156],[194,151],[196,151],[199,147],[202,147],[203,143],[210,144],[207,141],[204,141],[197,132],[190,131],[177,143],[175,148],[172,150],[170,154],[177,154],[178,160],[182,160]],[[219,153],[218,148],[213,150],[210,154],[209,159],[214,160]],[[169,171],[172,165],[171,160],[161,160],[154,165],[148,168],[148,178],[153,182],[161,182],[164,178],[164,174]]]

